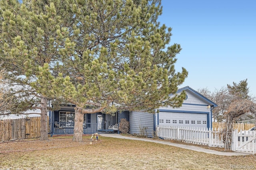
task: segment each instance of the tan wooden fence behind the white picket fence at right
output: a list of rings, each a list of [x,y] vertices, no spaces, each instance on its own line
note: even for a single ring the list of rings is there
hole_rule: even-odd
[[[222,130],[222,129],[225,129],[226,126],[227,125],[226,125],[225,122],[212,122],[212,128],[213,129],[216,128],[216,129]],[[239,132],[240,130],[249,130],[250,128],[252,128],[254,126],[255,126],[255,124],[236,123],[236,124],[234,124],[233,129],[238,130],[238,132]]]

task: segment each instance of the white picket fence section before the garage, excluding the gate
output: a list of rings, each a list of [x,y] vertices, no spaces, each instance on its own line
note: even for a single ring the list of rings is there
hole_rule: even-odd
[[[224,147],[222,135],[213,128],[195,128],[180,126],[158,126],[158,137],[163,139],[182,140],[193,144],[204,144],[214,147]]]

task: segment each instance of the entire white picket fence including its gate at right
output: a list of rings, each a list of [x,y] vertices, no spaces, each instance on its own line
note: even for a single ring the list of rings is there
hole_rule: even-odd
[[[165,140],[180,140],[186,143],[203,144],[210,147],[225,147],[220,130],[183,127],[183,126],[158,126],[159,138]],[[256,131],[235,130],[232,134],[231,150],[238,152],[256,153]]]

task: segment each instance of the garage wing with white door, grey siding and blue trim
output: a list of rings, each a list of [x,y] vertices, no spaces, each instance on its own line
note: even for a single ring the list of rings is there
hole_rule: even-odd
[[[130,133],[147,131],[147,136],[153,137],[158,125],[212,128],[212,109],[217,104],[189,86],[180,88],[177,93],[183,90],[186,91],[186,99],[180,108],[161,107],[155,114],[130,112]]]

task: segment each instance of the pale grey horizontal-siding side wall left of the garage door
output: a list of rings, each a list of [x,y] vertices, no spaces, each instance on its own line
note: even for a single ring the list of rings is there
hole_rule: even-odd
[[[130,134],[142,134],[152,138],[154,133],[154,114],[148,112],[130,112]],[[143,129],[143,130],[142,130]]]

